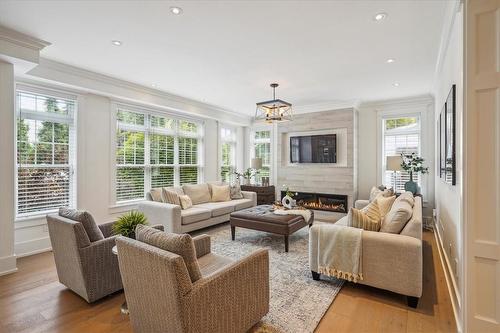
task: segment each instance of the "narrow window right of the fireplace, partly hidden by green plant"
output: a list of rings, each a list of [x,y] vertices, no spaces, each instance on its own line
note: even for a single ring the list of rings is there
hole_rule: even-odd
[[[397,172],[386,170],[387,156],[416,153],[420,155],[420,117],[394,117],[384,118],[382,124],[383,132],[383,155],[382,155],[382,179],[387,187],[394,187],[396,191],[404,191],[405,182],[410,180],[410,174],[405,171]],[[396,177],[396,179],[394,179]],[[420,175],[413,175],[413,181],[421,185]]]

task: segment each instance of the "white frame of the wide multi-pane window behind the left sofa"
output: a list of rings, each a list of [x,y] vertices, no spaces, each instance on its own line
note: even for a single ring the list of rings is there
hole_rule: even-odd
[[[176,113],[168,112],[165,110],[144,107],[141,105],[124,103],[121,101],[113,101],[111,103],[111,193],[110,193],[110,208],[126,206],[129,204],[134,204],[145,199],[146,193],[151,190],[151,169],[156,167],[157,165],[150,163],[150,142],[149,142],[149,134],[157,133],[163,135],[170,135],[174,137],[174,163],[169,164],[168,166],[172,166],[174,168],[174,186],[180,186],[180,168],[185,166],[193,166],[198,168],[198,183],[202,183],[204,181],[204,133],[205,133],[205,124],[202,120],[191,117],[183,117],[182,115],[178,115]],[[144,114],[144,126],[142,125],[132,125],[132,124],[118,124],[118,111],[129,111],[134,113]],[[174,130],[170,129],[161,129],[154,128],[152,129],[150,126],[150,116],[158,116],[173,119],[176,121],[176,126]],[[180,121],[188,121],[195,123],[198,126],[197,133],[190,132],[182,132],[179,130],[178,123]],[[136,198],[130,200],[117,200],[116,196],[116,171],[118,168],[118,164],[116,161],[116,150],[117,150],[117,142],[116,142],[116,133],[119,128],[122,129],[130,129],[130,130],[140,130],[145,132],[144,136],[144,197]],[[197,156],[197,164],[179,164],[179,138],[196,138],[198,139],[198,156]],[[165,165],[160,165],[165,166]]]

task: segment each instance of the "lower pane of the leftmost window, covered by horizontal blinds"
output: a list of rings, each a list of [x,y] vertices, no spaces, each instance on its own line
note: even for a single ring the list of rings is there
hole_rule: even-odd
[[[69,167],[17,170],[17,212],[27,214],[69,206]]]

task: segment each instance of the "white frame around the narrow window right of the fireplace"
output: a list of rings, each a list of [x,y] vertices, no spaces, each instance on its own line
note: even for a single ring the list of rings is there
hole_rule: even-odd
[[[431,159],[428,152],[428,129],[427,129],[427,112],[424,108],[412,107],[408,109],[398,110],[383,110],[377,111],[377,184],[383,184],[385,181],[386,160],[384,152],[384,121],[390,118],[405,118],[405,117],[418,117],[420,119],[419,131],[419,154],[425,159],[426,164],[429,164]],[[428,165],[430,166],[430,165]],[[429,167],[429,170],[432,166]],[[374,185],[375,186],[375,185]],[[424,198],[427,197],[428,191],[428,177],[421,175],[421,192]]]

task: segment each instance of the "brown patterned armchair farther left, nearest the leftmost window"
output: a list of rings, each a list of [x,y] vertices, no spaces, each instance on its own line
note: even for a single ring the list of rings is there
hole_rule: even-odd
[[[123,289],[118,258],[111,251],[117,237],[111,235],[112,222],[97,225],[103,237],[96,241],[90,241],[81,222],[53,214],[47,215],[47,224],[62,284],[89,303]]]

